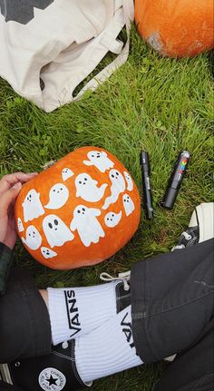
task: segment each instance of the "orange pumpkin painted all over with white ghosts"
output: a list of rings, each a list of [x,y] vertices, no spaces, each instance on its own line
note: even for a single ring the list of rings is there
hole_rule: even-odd
[[[112,153],[79,148],[24,184],[17,232],[34,259],[53,269],[94,265],[137,230],[141,202],[131,174]]]

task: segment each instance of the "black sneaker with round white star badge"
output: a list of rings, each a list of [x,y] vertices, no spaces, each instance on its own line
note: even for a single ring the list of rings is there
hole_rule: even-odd
[[[51,354],[24,358],[8,364],[10,381],[23,391],[76,391],[92,386],[83,383],[75,365],[75,340],[52,348]]]

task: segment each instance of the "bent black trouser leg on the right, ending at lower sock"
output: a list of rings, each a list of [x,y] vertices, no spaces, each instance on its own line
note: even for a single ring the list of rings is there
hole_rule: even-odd
[[[190,348],[213,318],[213,245],[210,239],[132,266],[133,339],[143,362]]]

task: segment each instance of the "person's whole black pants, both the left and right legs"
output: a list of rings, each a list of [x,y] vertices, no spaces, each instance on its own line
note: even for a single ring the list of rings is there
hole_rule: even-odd
[[[137,353],[144,363],[178,354],[155,391],[213,391],[213,244],[211,239],[131,268]],[[0,317],[1,362],[50,353],[48,312],[25,271],[12,270]]]

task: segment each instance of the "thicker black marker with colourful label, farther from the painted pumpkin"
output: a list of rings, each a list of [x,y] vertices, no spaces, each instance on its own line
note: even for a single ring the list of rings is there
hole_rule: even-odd
[[[167,209],[172,209],[180,190],[180,184],[183,181],[187,166],[190,161],[190,152],[180,152],[179,158],[175,163],[174,170],[170,175],[170,181],[166,190],[162,206]]]

